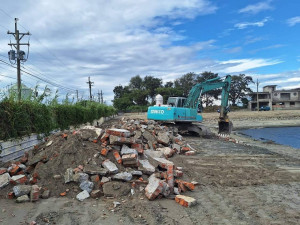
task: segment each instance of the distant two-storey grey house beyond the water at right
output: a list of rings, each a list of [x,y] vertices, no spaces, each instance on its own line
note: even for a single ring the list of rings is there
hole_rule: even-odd
[[[277,85],[263,87],[263,92],[250,94],[251,101],[248,108],[257,109],[257,94],[259,107],[269,106],[271,110],[276,109],[300,109],[300,88],[290,90],[276,90]]]

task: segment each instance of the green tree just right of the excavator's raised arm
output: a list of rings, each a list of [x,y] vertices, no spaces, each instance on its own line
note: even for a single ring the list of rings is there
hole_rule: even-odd
[[[246,76],[245,74],[231,76],[229,100],[233,106],[236,106],[242,98],[246,97],[247,93],[252,92],[248,87],[251,83],[254,83],[251,76]]]

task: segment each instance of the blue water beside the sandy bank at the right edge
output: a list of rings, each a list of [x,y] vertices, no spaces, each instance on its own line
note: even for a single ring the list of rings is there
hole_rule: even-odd
[[[240,133],[260,141],[274,141],[300,149],[300,127],[273,127],[241,130]]]

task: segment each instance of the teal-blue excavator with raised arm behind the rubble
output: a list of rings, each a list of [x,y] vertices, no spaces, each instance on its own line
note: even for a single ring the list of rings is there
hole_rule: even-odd
[[[172,124],[181,132],[194,132],[199,135],[207,135],[208,130],[201,124],[203,118],[202,96],[208,91],[222,88],[221,108],[219,110],[219,134],[228,136],[232,130],[232,122],[228,118],[228,98],[231,84],[231,76],[214,78],[196,84],[192,87],[187,98],[169,97],[167,105],[163,105],[162,96],[157,96],[156,105],[150,106],[147,118],[163,123]],[[159,97],[161,99],[159,99]]]

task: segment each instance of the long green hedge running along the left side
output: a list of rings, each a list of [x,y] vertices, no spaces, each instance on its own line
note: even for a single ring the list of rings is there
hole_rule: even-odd
[[[101,117],[115,115],[116,110],[96,102],[70,105],[45,105],[38,102],[0,102],[0,140],[21,137],[31,133],[49,133],[68,129]]]

